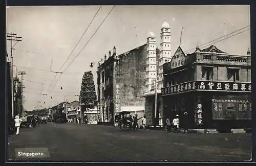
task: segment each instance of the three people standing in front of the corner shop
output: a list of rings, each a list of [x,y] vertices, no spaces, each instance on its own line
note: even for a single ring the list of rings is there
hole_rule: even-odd
[[[188,113],[187,112],[184,112],[184,118],[183,118],[183,127],[184,127],[184,131],[183,133],[188,133],[188,129],[187,129],[187,116],[188,116]],[[169,117],[166,118],[166,131],[167,132],[170,132],[172,130],[172,127],[174,128],[174,132],[177,133],[178,132],[178,129],[179,129],[179,115],[177,114],[176,117],[173,119],[172,123],[169,119]]]

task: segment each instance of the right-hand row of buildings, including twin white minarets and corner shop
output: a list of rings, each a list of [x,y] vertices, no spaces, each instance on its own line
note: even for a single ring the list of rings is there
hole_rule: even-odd
[[[230,117],[240,120],[233,127],[250,126],[250,50],[233,55],[211,45],[185,54],[179,46],[172,54],[166,21],[159,48],[153,32],[145,44],[123,54],[114,46],[98,62],[97,85],[99,122],[113,123],[120,111],[131,111],[146,115],[148,126],[162,126],[167,117],[186,111],[194,128],[223,126]]]

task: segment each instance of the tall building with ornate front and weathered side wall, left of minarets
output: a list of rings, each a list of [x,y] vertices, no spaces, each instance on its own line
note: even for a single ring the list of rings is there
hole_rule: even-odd
[[[97,71],[99,121],[113,123],[115,114],[122,111],[122,106],[144,106],[142,94],[148,86],[146,78],[148,81],[148,76],[154,77],[154,73],[149,70],[146,72],[146,66],[152,67],[148,64],[150,58],[146,58],[146,55],[154,53],[148,49],[149,43],[120,55],[116,54],[114,47],[113,54],[110,51],[108,59],[104,56],[104,62],[99,64]]]

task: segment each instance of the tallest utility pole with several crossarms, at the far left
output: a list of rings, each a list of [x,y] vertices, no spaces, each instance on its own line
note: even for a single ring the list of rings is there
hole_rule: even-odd
[[[20,40],[22,37],[16,36],[17,34],[15,33],[8,33],[7,37],[9,37],[7,40],[11,41],[11,88],[12,88],[12,118],[14,118],[14,105],[13,105],[13,56],[12,56],[12,50],[13,50],[13,46],[16,45],[16,43],[18,41],[22,41]],[[13,45],[13,41],[17,41],[14,45]]]

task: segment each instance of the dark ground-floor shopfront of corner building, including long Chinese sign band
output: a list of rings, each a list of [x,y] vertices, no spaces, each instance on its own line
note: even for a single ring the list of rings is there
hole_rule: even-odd
[[[189,128],[250,128],[251,83],[190,81],[162,88],[164,117],[189,116]]]

